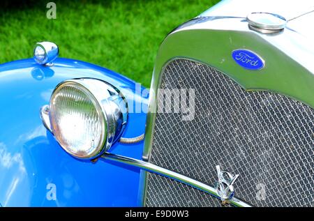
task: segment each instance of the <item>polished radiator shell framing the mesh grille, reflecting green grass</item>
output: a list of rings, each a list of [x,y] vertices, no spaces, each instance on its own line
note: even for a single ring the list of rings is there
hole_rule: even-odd
[[[265,7],[262,7],[263,5],[264,1],[254,3],[252,1],[241,1],[241,3],[221,1],[200,17],[179,26],[165,38],[160,45],[151,80],[144,160],[149,160],[157,112],[156,96],[162,73],[167,64],[178,57],[210,64],[223,73],[227,73],[246,90],[276,91],[276,93],[301,100],[310,107],[314,107],[314,43],[312,40],[314,29],[309,28],[314,19],[314,13],[292,20],[293,29],[290,29],[288,22],[285,31],[265,35],[252,31],[246,22],[246,15],[257,11],[257,6],[261,6],[260,9],[263,11],[267,11],[272,6],[272,4],[265,4]],[[293,17],[298,14],[297,11],[304,11],[306,6],[313,6],[314,2],[306,1],[306,4],[295,5],[295,3],[283,5],[278,3],[278,7],[268,11],[281,14],[288,19],[290,15]],[[241,10],[234,10],[236,6]],[[306,21],[302,20],[305,17],[307,17]],[[299,20],[302,22],[298,22]],[[305,28],[303,28],[304,24],[306,24]],[[230,59],[232,51],[239,48],[254,51],[267,63],[267,66],[259,71],[261,75],[258,79],[249,70],[239,69],[240,67]],[[276,84],[271,82],[276,82]],[[299,90],[298,87],[292,85],[304,86],[302,90]]]

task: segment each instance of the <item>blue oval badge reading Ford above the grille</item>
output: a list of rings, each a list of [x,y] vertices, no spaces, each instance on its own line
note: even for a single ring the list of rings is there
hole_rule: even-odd
[[[260,70],[264,68],[264,61],[254,52],[247,49],[236,49],[232,52],[232,58],[239,66],[248,70]]]

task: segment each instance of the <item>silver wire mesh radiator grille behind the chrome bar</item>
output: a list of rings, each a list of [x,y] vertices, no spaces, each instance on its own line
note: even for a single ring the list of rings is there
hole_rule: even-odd
[[[220,165],[240,174],[234,194],[250,204],[314,206],[311,107],[275,93],[244,91],[215,68],[185,59],[165,68],[160,88],[195,89],[195,116],[182,121],[181,113],[157,113],[152,163],[209,185]],[[150,176],[147,206],[220,205],[192,189]]]

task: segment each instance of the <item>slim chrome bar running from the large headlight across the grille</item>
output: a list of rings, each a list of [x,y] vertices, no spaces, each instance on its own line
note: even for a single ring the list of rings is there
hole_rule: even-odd
[[[188,176],[178,174],[177,172],[173,172],[169,169],[165,169],[163,167],[153,165],[150,162],[145,162],[142,160],[137,160],[134,158],[128,158],[125,156],[115,155],[115,154],[107,153],[107,152],[105,154],[103,154],[101,157],[104,158],[105,160],[112,160],[114,162],[121,162],[121,163],[124,163],[126,165],[139,167],[141,169],[144,169],[147,172],[159,174],[159,175],[165,176],[167,178],[172,178],[172,179],[179,181],[181,183],[185,183],[186,185],[190,185],[193,188],[197,188],[199,190],[207,192],[210,195],[220,199],[216,190],[211,185],[201,183],[200,181],[196,181],[193,178],[189,178]],[[237,197],[232,197],[232,199],[230,199],[230,204],[232,204],[233,206],[239,206],[239,207],[251,207],[250,204],[242,201],[241,199],[238,199]]]

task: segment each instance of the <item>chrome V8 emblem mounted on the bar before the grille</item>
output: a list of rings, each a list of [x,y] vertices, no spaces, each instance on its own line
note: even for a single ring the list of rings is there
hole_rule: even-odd
[[[234,195],[233,183],[239,177],[239,174],[232,176],[230,173],[221,171],[220,166],[216,166],[218,181],[215,183],[215,190],[219,195],[223,204],[228,200],[232,199]]]

